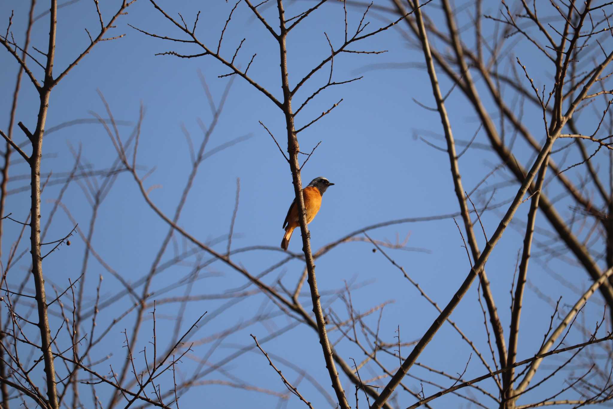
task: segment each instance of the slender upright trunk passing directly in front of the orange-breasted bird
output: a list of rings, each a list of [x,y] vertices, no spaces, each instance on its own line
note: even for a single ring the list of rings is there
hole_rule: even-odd
[[[332,388],[337,394],[337,399],[342,409],[349,409],[349,403],[345,397],[345,391],[343,391],[343,385],[341,384],[338,372],[334,364],[332,357],[332,349],[330,348],[330,341],[326,332],[326,321],[321,309],[321,300],[319,296],[319,290],[317,288],[317,281],[315,278],[315,264],[313,261],[313,253],[311,252],[310,233],[307,228],[307,210],[305,209],[304,198],[302,197],[302,180],[300,178],[300,164],[298,162],[298,153],[300,147],[298,144],[298,138],[296,136],[294,128],[294,115],[292,112],[292,92],[289,88],[289,74],[287,72],[287,28],[285,25],[285,15],[283,9],[283,0],[277,0],[277,7],[279,10],[279,25],[281,28],[281,34],[278,37],[279,51],[281,55],[281,88],[283,88],[283,113],[285,115],[286,127],[287,127],[287,152],[289,153],[289,166],[292,170],[292,181],[294,183],[294,194],[296,198],[296,205],[299,209],[299,222],[300,232],[302,233],[302,250],[305,253],[305,261],[307,263],[308,284],[311,289],[311,300],[313,301],[313,313],[315,314],[319,343],[324,353],[324,359],[326,360],[326,368],[332,381]]]

